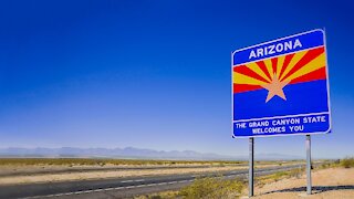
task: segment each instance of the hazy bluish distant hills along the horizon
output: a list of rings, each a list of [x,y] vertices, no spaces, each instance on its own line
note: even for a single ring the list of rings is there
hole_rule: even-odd
[[[0,157],[81,157],[81,158],[129,158],[129,159],[186,159],[186,160],[246,160],[248,156],[225,156],[197,153],[194,150],[153,150],[134,147],[126,148],[0,148]],[[256,159],[301,159],[298,156],[280,154],[259,154]]]

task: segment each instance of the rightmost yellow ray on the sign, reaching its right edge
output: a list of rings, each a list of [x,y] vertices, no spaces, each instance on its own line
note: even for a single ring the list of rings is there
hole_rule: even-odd
[[[322,53],[320,56],[311,60],[309,63],[306,63],[304,66],[302,66],[300,70],[294,72],[292,75],[288,76],[287,80],[291,81],[299,76],[305,75],[308,73],[311,73],[317,69],[321,69],[325,66],[325,54]],[[285,81],[287,81],[285,80]]]

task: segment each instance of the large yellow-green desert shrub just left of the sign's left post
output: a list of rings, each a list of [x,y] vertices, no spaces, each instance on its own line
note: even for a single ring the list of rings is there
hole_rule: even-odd
[[[225,180],[219,178],[199,178],[191,185],[183,188],[179,196],[186,199],[219,199],[219,198],[237,198],[240,196],[244,182],[230,179]]]

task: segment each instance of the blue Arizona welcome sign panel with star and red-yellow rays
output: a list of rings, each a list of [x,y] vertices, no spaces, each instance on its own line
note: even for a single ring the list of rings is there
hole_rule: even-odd
[[[323,30],[237,50],[231,63],[233,137],[331,132]]]

